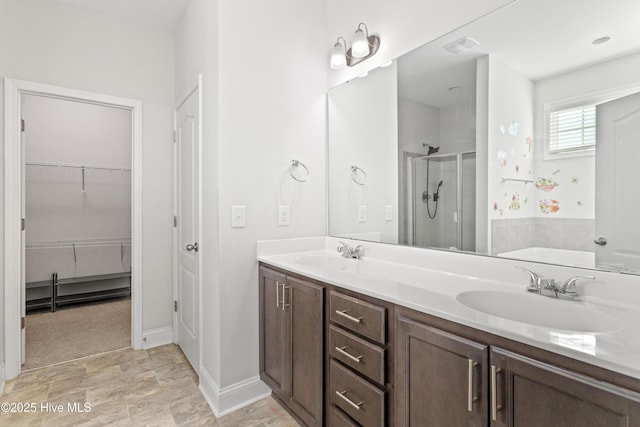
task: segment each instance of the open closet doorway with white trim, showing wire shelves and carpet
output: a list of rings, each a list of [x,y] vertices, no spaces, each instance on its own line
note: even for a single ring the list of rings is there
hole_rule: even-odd
[[[140,348],[140,102],[5,79],[5,106],[7,378]]]

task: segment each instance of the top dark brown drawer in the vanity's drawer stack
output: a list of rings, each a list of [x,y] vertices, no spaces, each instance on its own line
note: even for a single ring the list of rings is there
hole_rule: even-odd
[[[379,342],[385,343],[386,309],[331,291],[331,321]]]

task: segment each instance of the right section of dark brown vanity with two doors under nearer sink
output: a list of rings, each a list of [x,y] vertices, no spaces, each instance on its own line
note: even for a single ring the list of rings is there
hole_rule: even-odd
[[[434,321],[464,338],[422,317],[396,318],[396,426],[640,426],[640,393],[519,354],[545,354],[526,345]],[[611,374],[611,381],[618,378]]]

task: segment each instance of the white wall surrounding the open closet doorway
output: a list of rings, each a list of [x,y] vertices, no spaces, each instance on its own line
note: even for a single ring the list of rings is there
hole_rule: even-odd
[[[0,0],[0,52],[0,77],[142,100],[143,328],[171,328],[172,35],[58,2]]]

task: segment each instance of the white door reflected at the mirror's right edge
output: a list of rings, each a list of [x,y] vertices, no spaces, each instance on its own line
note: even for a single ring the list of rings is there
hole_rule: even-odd
[[[596,107],[596,266],[640,271],[640,93]]]

